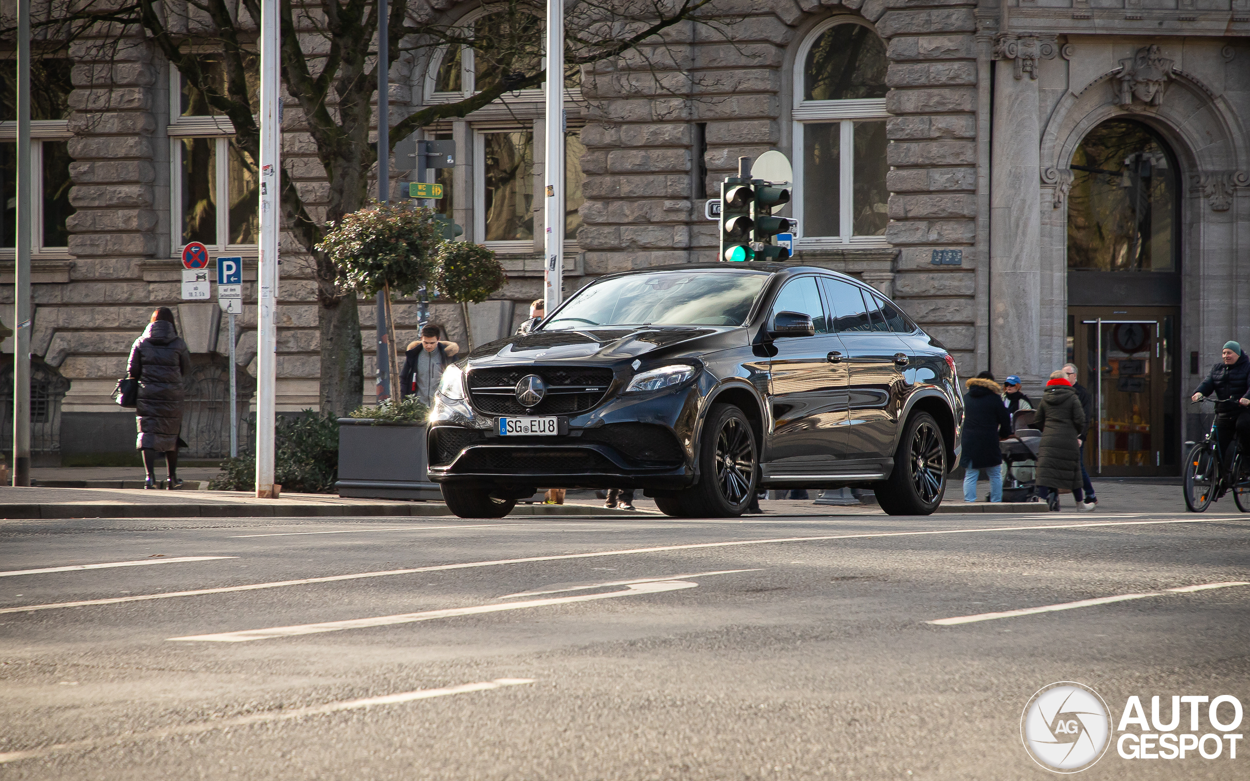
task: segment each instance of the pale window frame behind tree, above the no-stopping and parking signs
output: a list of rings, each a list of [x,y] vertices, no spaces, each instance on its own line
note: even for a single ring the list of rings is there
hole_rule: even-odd
[[[209,54],[209,52],[205,52]],[[216,244],[206,245],[210,252],[255,255],[258,244],[229,244],[230,239],[230,141],[235,137],[234,122],[224,115],[182,116],[182,81],[178,66],[169,66],[169,237],[170,256],[176,257],[182,241],[182,141],[212,139],[216,170]],[[256,211],[260,211],[258,199]]]

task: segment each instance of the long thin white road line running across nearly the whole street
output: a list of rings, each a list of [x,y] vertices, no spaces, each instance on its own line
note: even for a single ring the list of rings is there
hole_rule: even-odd
[[[248,584],[245,586],[222,586],[219,589],[196,589],[192,591],[168,591],[165,594],[141,594],[102,600],[80,600],[76,602],[50,602],[46,605],[25,605],[21,607],[0,607],[0,615],[10,612],[29,612],[34,610],[54,610],[58,607],[86,607],[89,605],[118,605],[145,600],[168,600],[178,596],[202,596],[206,594],[232,594],[235,591],[255,591],[258,589],[280,589],[282,586],[304,586],[308,584],[330,584],[361,577],[385,577],[388,575],[411,575],[414,572],[444,572],[448,570],[468,570],[472,567],[492,567],[508,564],[530,564],[535,561],[566,561],[571,559],[596,559],[601,556],[630,556],[635,554],[660,554],[666,551],[700,550],[712,547],[736,547],[742,545],[772,545],[778,542],[822,542],[829,540],[870,540],[881,537],[909,537],[929,535],[984,534],[995,531],[1046,531],[1058,529],[1100,529],[1105,526],[1154,526],[1160,524],[1214,524],[1224,519],[1174,519],[1164,521],[1104,521],[1098,524],[1054,524],[1046,526],[991,526],[986,529],[948,529],[935,531],[884,531],[858,535],[821,535],[815,537],[775,537],[770,540],[730,540],[726,542],[691,542],[686,545],[660,545],[655,547],[634,547],[619,551],[599,551],[594,554],[562,554],[556,556],[526,556],[524,559],[500,559],[496,561],[470,561],[465,564],[440,564],[428,567],[404,570],[382,570],[379,572],[354,572],[351,575],[328,575],[324,577],[302,577],[299,580],[280,580],[266,584]]]

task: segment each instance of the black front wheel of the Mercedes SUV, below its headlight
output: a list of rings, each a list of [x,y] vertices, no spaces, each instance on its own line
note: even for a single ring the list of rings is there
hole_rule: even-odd
[[[759,461],[755,431],[742,410],[712,405],[699,442],[699,482],[656,496],[655,504],[675,517],[736,517],[751,504]]]

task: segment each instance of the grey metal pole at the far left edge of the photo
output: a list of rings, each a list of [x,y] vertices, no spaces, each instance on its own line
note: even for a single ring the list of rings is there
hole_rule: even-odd
[[[14,262],[12,485],[30,485],[30,0],[18,0],[18,257]]]

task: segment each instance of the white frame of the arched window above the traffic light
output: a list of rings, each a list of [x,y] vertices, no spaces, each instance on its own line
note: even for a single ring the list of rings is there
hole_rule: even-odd
[[[806,89],[806,64],[811,47],[826,31],[838,25],[855,24],[868,27],[872,35],[878,35],[876,29],[864,19],[850,15],[836,15],[820,22],[804,39],[799,46],[798,56],[794,61],[794,90],[791,119],[791,149],[794,167],[794,187],[791,197],[791,214],[799,221],[798,242],[799,250],[816,250],[845,247],[848,245],[862,247],[889,247],[885,236],[856,236],[855,225],[855,136],[854,126],[856,121],[884,121],[892,116],[885,110],[884,97],[865,97],[854,100],[804,100]],[[879,36],[880,37],[880,36]],[[882,41],[884,44],[884,41]],[[839,235],[836,236],[809,236],[804,232],[804,132],[806,125],[832,124],[840,125],[839,132]]]

